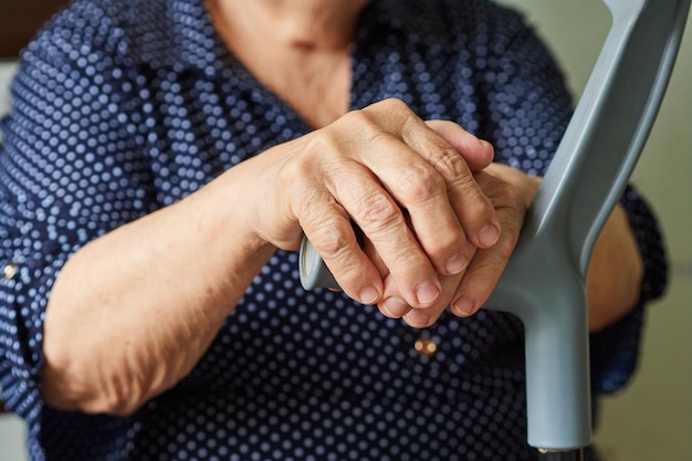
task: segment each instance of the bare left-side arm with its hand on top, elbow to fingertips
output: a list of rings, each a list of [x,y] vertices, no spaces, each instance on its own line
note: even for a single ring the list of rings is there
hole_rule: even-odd
[[[458,125],[426,124],[386,101],[91,241],[51,291],[42,398],[132,413],[190,373],[276,247],[297,250],[303,231],[355,300],[398,293],[438,308],[453,294],[438,275],[462,273],[497,239],[472,175],[491,157]],[[377,258],[358,245],[352,219]]]

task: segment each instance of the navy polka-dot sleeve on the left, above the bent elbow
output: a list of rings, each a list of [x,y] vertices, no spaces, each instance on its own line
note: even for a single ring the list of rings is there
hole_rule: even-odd
[[[29,420],[41,408],[43,321],[61,268],[155,205],[124,115],[118,31],[103,11],[80,4],[22,53],[1,123],[0,388],[8,409]]]

